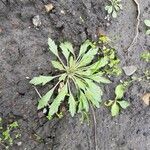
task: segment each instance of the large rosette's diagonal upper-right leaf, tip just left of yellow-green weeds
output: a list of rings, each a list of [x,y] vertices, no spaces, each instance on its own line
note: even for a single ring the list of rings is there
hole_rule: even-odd
[[[92,62],[94,56],[97,54],[98,48],[91,48],[86,54],[83,55],[78,67],[86,66]]]

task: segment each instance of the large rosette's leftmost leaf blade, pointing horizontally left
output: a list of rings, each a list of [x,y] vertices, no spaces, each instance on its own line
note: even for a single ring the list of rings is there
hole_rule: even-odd
[[[55,77],[52,76],[39,76],[39,77],[34,77],[29,83],[33,85],[45,85],[46,83],[50,82],[53,80]]]

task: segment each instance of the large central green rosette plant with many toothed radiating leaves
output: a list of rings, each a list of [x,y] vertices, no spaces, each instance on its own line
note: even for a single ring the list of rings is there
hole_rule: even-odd
[[[59,45],[49,38],[49,50],[58,60],[51,61],[53,67],[60,74],[55,76],[34,77],[30,83],[33,85],[45,85],[55,79],[57,83],[50,89],[38,102],[38,110],[48,107],[48,118],[60,114],[61,103],[68,103],[68,110],[73,117],[76,113],[89,112],[89,106],[100,107],[101,96],[103,94],[99,84],[110,83],[103,77],[100,70],[108,64],[108,58],[94,61],[99,48],[89,40],[86,40],[80,47],[79,54],[76,57],[74,48],[70,42],[64,42]],[[63,54],[65,60],[60,58]],[[62,55],[61,55],[62,56]],[[52,97],[56,93],[56,97]]]

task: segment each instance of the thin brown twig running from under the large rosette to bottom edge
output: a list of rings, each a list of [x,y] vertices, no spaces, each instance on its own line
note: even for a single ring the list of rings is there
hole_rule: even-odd
[[[97,147],[97,132],[96,132],[97,122],[96,122],[96,117],[95,117],[95,111],[94,111],[94,108],[93,108],[92,105],[91,105],[91,110],[92,110],[93,121],[94,121],[94,143],[95,143],[95,150],[98,150],[98,147]]]

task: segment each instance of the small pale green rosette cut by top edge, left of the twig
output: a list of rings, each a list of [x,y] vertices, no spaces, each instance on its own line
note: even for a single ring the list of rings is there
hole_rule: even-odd
[[[113,18],[117,18],[117,13],[122,10],[121,0],[109,0],[110,4],[105,6],[107,13],[112,15]]]

